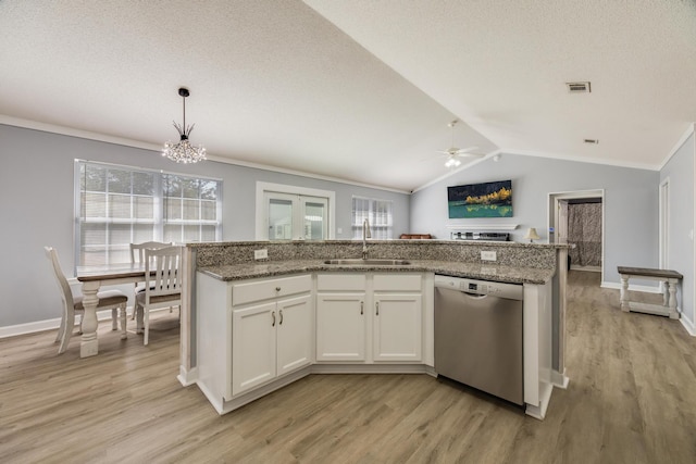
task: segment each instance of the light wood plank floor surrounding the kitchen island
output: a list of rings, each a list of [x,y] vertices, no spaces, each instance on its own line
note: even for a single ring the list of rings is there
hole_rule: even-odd
[[[183,388],[176,315],[100,353],[0,340],[0,462],[694,463],[696,338],[571,272],[568,390],[544,422],[425,375],[310,376],[225,416]],[[133,324],[133,322],[129,322]]]

